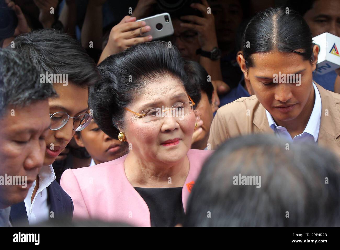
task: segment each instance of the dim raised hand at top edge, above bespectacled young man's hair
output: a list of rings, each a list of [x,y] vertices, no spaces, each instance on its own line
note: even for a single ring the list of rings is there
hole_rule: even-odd
[[[43,24],[43,27],[52,28],[55,19],[54,14],[50,13],[50,8],[53,7],[54,11],[56,11],[58,0],[33,0],[33,2],[39,8],[39,21]]]

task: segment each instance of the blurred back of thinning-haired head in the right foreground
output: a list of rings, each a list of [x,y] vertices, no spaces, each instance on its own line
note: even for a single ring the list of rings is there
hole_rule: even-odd
[[[184,226],[340,226],[339,199],[333,153],[248,135],[226,141],[205,163]]]

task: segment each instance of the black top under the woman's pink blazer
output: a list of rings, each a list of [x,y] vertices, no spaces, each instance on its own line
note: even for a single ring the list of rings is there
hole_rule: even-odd
[[[174,227],[183,223],[182,188],[135,187],[149,207],[151,227]]]

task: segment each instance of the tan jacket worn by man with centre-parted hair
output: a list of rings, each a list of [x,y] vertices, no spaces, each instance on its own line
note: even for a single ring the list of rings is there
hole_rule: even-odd
[[[315,84],[322,103],[318,144],[340,157],[340,94]],[[239,98],[217,110],[210,127],[208,144],[215,150],[231,137],[255,133],[274,134],[274,131],[269,127],[265,108],[253,95]]]

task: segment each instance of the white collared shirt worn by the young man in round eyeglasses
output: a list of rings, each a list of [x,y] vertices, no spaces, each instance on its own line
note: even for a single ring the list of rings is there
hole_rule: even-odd
[[[50,218],[50,205],[47,202],[48,191],[47,187],[55,180],[55,173],[52,165],[43,166],[39,173],[39,188],[31,203],[36,181],[33,182],[32,186],[28,190],[28,194],[24,199],[28,222],[30,225],[46,221]]]

